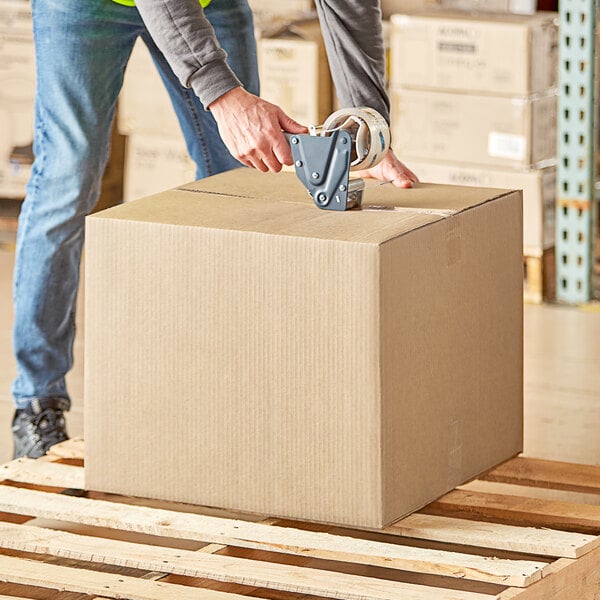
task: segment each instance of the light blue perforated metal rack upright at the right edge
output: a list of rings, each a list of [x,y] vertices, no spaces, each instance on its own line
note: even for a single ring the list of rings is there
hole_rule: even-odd
[[[556,297],[593,299],[598,0],[560,0]]]

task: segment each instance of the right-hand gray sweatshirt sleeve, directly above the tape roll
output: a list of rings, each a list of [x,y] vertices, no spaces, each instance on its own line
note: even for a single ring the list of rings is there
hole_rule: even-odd
[[[379,0],[315,0],[342,106],[370,106],[390,122]]]

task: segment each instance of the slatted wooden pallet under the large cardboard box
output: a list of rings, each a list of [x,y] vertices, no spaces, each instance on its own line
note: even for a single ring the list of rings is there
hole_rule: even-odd
[[[600,467],[513,459],[358,531],[78,492],[82,456],[0,467],[0,599],[600,598]]]

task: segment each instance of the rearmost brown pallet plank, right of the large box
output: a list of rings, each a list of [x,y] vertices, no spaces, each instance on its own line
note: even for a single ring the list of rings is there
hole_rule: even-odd
[[[593,465],[519,457],[496,467],[481,479],[600,494],[600,467]]]

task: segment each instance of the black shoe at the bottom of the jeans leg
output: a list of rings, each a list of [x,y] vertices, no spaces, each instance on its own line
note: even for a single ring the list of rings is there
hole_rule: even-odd
[[[18,409],[13,418],[13,458],[44,456],[50,446],[69,439],[63,411],[68,410],[65,398],[35,399],[27,408]]]

